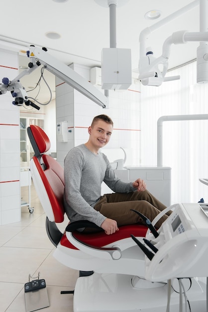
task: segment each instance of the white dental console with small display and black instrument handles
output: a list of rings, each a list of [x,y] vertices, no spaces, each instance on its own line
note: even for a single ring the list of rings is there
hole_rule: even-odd
[[[175,204],[171,208],[173,212],[157,231],[159,235],[149,231],[142,246],[137,242],[146,255],[145,278],[159,282],[208,276],[207,211],[200,203]]]

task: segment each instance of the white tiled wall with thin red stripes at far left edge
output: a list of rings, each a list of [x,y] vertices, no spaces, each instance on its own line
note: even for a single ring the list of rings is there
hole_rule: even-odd
[[[1,67],[2,77],[12,80],[18,75],[18,53],[1,49],[0,65],[7,66]],[[19,180],[19,107],[12,101],[10,92],[0,96],[0,182]],[[11,185],[0,183],[0,225],[20,221],[19,182]],[[16,209],[6,211],[12,206]]]

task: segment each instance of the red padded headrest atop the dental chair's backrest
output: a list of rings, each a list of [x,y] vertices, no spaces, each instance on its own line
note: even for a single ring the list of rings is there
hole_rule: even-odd
[[[35,152],[35,156],[39,156],[50,149],[50,140],[40,127],[30,125],[30,127],[27,128],[27,133]]]

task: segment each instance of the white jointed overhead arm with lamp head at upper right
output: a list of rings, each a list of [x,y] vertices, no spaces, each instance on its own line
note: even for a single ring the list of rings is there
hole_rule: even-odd
[[[163,44],[163,53],[160,57],[155,58],[151,50],[146,51],[146,38],[147,36],[165,25],[169,21],[175,19],[176,17],[184,14],[193,7],[200,3],[200,32],[187,32],[187,31],[177,31],[168,37]],[[205,67],[208,67],[208,32],[207,32],[207,0],[196,0],[192,3],[182,7],[173,14],[167,16],[163,20],[155,23],[154,25],[147,27],[142,30],[139,36],[140,43],[140,59],[139,59],[139,79],[143,85],[160,86],[164,81],[179,79],[179,76],[165,77],[168,69],[168,59],[170,56],[170,47],[174,44],[186,43],[188,41],[200,41],[200,47],[197,51],[198,60],[198,78],[197,82],[207,82],[208,81],[208,68],[205,73]],[[151,53],[151,54],[150,54]],[[201,65],[202,64],[202,65]],[[159,69],[159,65],[163,66],[163,70]],[[200,67],[201,66],[201,67]],[[203,72],[203,74],[201,74]]]

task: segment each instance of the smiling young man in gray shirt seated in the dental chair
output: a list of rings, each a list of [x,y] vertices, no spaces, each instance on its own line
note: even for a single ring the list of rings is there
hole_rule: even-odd
[[[112,130],[113,122],[108,116],[96,116],[88,128],[88,142],[70,150],[64,163],[64,205],[68,218],[71,222],[94,222],[106,234],[118,231],[122,225],[143,224],[131,209],[152,221],[166,208],[146,190],[142,179],[126,183],[117,178],[107,157],[99,152],[109,142]],[[114,193],[101,196],[103,181]],[[168,215],[157,222],[158,228]]]

